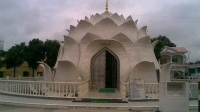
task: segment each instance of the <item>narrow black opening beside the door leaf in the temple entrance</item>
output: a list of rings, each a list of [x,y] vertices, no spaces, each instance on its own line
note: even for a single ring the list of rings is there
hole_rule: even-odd
[[[106,51],[106,88],[117,88],[117,59]]]

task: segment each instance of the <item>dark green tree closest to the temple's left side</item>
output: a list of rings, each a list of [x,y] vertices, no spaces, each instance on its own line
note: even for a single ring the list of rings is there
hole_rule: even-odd
[[[54,40],[46,40],[44,43],[44,47],[45,47],[45,52],[46,52],[46,63],[53,68],[56,60],[57,60],[57,56],[58,56],[58,51],[60,48],[60,45]]]

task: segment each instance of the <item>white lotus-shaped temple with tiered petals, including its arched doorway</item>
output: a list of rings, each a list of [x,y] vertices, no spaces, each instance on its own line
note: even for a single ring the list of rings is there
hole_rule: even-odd
[[[138,29],[137,20],[117,13],[91,15],[70,26],[55,65],[53,81],[89,80],[97,88],[119,88],[129,78],[157,82],[160,70],[154,54],[155,43],[147,26]]]

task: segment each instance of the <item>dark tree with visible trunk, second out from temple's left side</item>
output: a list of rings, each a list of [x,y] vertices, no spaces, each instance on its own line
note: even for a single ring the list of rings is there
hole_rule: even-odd
[[[44,51],[44,43],[39,39],[33,39],[29,42],[29,45],[26,49],[26,58],[28,65],[33,70],[33,77],[34,77],[34,70],[37,69],[38,63],[37,61],[41,61],[45,58],[45,51]]]

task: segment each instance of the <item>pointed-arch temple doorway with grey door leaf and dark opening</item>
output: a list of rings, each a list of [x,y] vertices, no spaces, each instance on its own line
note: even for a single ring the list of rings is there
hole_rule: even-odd
[[[104,48],[91,60],[91,82],[96,88],[118,88],[119,59],[109,49]]]

